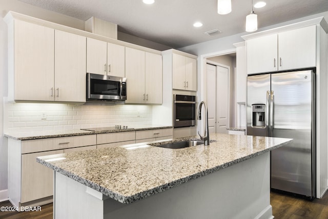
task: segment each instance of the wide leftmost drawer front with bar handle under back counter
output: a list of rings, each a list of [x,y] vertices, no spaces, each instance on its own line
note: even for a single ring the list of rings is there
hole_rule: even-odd
[[[22,154],[96,145],[95,134],[22,141]]]

